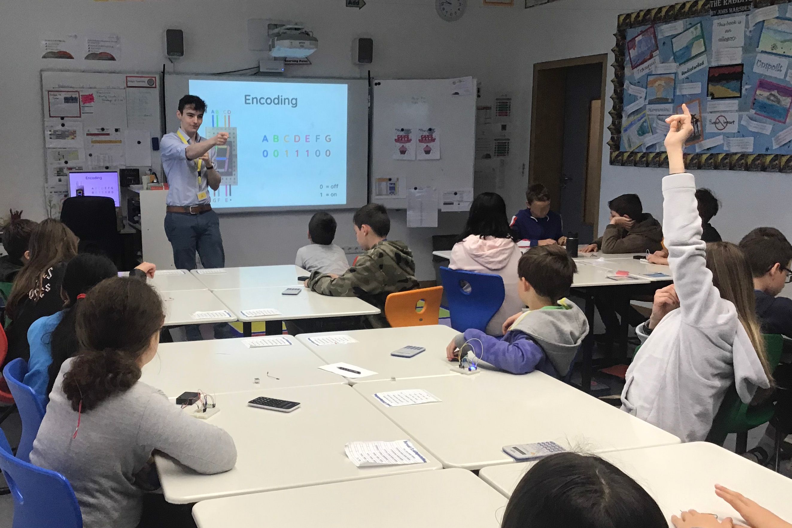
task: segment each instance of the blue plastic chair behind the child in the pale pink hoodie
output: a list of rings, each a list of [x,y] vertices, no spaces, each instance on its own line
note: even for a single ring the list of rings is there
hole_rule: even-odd
[[[440,278],[451,312],[451,328],[485,332],[506,296],[501,275],[440,267]]]

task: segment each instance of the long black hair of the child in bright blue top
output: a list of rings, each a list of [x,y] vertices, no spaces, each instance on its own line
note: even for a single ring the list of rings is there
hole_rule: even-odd
[[[52,363],[49,367],[50,381],[47,386],[47,393],[55,385],[55,378],[58,377],[60,367],[63,362],[73,355],[77,355],[79,344],[77,341],[77,310],[76,307],[82,302],[78,295],[87,294],[91,288],[105,279],[118,275],[118,268],[112,260],[106,256],[91,255],[81,253],[69,261],[66,272],[63,273],[63,285],[61,286],[66,297],[66,308],[63,319],[52,331],[50,337]]]

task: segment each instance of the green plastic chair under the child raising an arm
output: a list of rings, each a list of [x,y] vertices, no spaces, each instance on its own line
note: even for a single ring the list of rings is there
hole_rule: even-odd
[[[767,362],[770,363],[771,370],[778,367],[781,361],[783,350],[783,337],[780,334],[763,334],[764,346],[767,349]],[[723,398],[721,408],[715,415],[710,428],[710,434],[706,441],[717,443],[722,446],[726,435],[737,433],[737,443],[735,451],[737,454],[744,454],[748,450],[748,431],[754,427],[767,424],[775,413],[775,406],[772,402],[760,405],[744,404],[737,396],[737,389],[731,386],[729,392]]]

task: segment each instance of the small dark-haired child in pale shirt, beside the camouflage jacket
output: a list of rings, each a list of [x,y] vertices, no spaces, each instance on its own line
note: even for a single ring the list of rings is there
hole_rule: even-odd
[[[334,273],[341,275],[349,269],[344,250],[333,244],[336,237],[336,219],[325,211],[319,211],[308,222],[309,245],[297,250],[295,264],[311,273]]]

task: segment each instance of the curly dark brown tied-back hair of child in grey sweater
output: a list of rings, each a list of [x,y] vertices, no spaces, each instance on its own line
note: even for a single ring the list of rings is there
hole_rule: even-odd
[[[143,281],[114,277],[98,283],[78,304],[80,347],[63,376],[63,393],[78,411],[90,411],[107,398],[135,385],[137,359],[162,328],[162,300]]]

